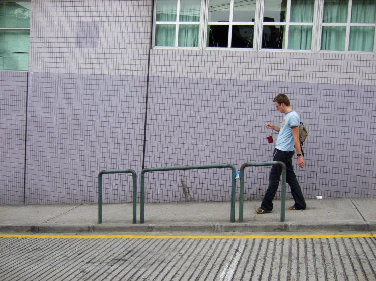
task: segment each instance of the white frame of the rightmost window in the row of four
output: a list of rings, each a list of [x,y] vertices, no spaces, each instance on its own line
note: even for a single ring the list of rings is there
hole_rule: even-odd
[[[349,53],[349,54],[372,54],[376,53],[376,23],[351,23],[351,9],[353,0],[348,0],[348,15],[346,22],[342,23],[326,23],[323,22],[323,16],[324,16],[324,2],[325,0],[316,0],[316,2],[319,2],[320,7],[320,26],[319,30],[317,30],[317,50],[320,51],[320,53]],[[376,5],[376,2],[375,2]],[[330,51],[330,50],[321,50],[321,42],[322,42],[322,33],[323,33],[323,26],[345,26],[346,27],[346,38],[345,38],[345,45],[344,45],[344,51]],[[374,35],[374,42],[373,42],[373,52],[367,52],[367,51],[349,51],[349,41],[350,41],[350,27],[353,26],[359,26],[359,27],[374,27],[375,29],[375,35]]]

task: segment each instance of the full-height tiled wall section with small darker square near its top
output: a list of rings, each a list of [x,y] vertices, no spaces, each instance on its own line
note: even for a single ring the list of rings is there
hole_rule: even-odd
[[[149,15],[149,16],[148,16]],[[34,1],[26,203],[94,203],[142,169],[150,1]],[[131,202],[104,175],[103,202]]]

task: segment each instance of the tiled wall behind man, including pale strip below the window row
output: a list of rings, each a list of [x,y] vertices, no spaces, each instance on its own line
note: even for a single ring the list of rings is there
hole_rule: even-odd
[[[272,100],[282,92],[309,130],[306,167],[294,164],[305,197],[375,195],[376,55],[152,50],[151,58],[147,166],[271,161],[263,123],[281,123]],[[270,168],[247,170],[245,198],[262,199]],[[193,200],[229,187],[227,174],[191,172]],[[160,177],[164,194],[181,189],[181,176]]]

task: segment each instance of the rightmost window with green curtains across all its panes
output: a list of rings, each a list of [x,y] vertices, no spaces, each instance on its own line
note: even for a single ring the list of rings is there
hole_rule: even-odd
[[[325,0],[322,25],[322,50],[372,52],[376,29],[375,1]]]

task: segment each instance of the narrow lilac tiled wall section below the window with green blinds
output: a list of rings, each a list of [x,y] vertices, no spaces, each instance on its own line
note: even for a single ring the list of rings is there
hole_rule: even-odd
[[[22,204],[26,72],[0,71],[0,204]]]

